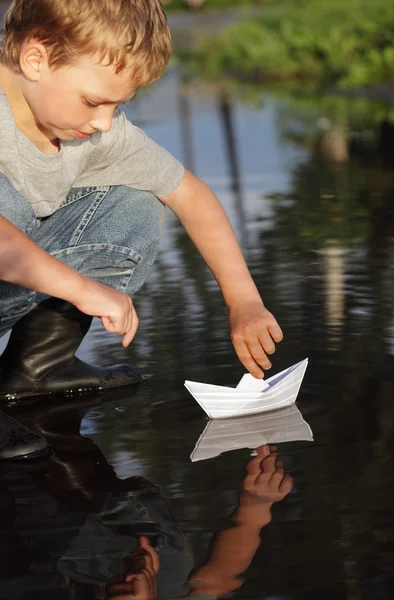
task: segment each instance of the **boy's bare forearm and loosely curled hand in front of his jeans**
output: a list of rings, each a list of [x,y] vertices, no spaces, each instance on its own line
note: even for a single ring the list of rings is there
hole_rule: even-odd
[[[61,298],[100,317],[105,329],[123,334],[128,346],[138,327],[131,299],[63,264],[0,217],[0,280]]]

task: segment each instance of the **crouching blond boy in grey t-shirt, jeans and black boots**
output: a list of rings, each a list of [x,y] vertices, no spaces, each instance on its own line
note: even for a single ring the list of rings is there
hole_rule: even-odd
[[[263,377],[282,332],[219,201],[118,110],[161,76],[170,53],[159,0],[14,0],[0,47],[0,215],[45,251],[35,253],[39,271],[50,268],[49,253],[132,297],[158,251],[162,205],[170,207],[219,283],[238,357]],[[105,321],[105,311],[8,279],[0,282],[0,335],[12,327],[0,398],[136,381],[130,367],[96,369],[74,357],[89,315]],[[130,304],[124,320],[127,344],[137,323]]]

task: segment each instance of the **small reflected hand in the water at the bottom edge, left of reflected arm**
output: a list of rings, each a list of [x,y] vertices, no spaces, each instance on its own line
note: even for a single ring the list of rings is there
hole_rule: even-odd
[[[115,577],[107,585],[107,598],[116,600],[153,600],[157,595],[156,573],[159,555],[146,537],[140,538],[140,546],[125,560],[126,573]]]

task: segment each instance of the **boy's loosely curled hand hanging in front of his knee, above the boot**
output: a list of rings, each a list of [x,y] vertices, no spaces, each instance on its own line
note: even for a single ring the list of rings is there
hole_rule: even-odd
[[[71,302],[83,313],[99,317],[107,331],[122,335],[125,348],[134,338],[138,317],[127,294],[84,278],[82,291]]]

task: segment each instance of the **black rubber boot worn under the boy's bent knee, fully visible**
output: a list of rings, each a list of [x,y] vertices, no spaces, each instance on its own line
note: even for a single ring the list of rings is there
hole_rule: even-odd
[[[129,365],[99,369],[74,356],[91,322],[92,317],[56,298],[18,321],[1,357],[0,401],[86,394],[140,382],[141,375]]]

